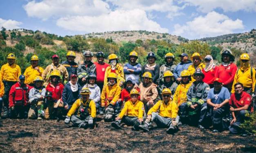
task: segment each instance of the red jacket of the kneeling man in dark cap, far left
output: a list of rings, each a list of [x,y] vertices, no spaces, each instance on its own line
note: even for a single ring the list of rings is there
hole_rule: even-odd
[[[9,92],[9,108],[13,106],[26,106],[29,100],[29,90],[33,87],[25,85],[24,87],[20,86],[20,83],[17,82],[11,86]]]

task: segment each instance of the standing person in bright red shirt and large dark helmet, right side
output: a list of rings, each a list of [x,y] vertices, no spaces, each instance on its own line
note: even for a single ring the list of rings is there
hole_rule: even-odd
[[[223,80],[223,86],[231,92],[237,70],[236,64],[233,63],[235,61],[235,57],[232,55],[230,49],[225,48],[221,52],[222,64],[218,66],[215,77]]]

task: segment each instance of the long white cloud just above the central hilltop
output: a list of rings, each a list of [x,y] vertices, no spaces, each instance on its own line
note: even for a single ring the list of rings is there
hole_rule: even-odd
[[[84,32],[147,30],[168,33],[167,28],[162,28],[158,23],[149,20],[146,12],[140,9],[116,10],[93,17],[62,17],[57,20],[57,25],[71,31]]]

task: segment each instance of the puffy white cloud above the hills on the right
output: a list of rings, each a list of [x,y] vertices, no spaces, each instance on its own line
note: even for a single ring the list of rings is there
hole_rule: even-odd
[[[234,30],[244,29],[244,25],[242,20],[232,20],[226,15],[212,11],[205,16],[194,18],[185,25],[176,24],[174,29],[175,35],[198,39],[233,33]]]

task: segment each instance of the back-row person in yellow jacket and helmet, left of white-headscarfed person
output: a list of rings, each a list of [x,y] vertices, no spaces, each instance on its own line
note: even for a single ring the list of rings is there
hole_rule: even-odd
[[[200,56],[200,54],[198,52],[195,52],[192,57],[191,60],[193,61],[193,64],[190,65],[187,70],[189,71],[190,74],[194,74],[194,72],[196,71],[196,69],[200,68],[201,71],[203,70],[203,68],[205,68],[205,63],[202,63],[202,57]],[[194,82],[196,81],[193,77],[191,77],[191,81]]]

